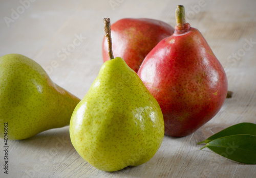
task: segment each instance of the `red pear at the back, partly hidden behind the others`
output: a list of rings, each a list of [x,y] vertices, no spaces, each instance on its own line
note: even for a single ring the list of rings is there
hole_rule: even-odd
[[[174,28],[169,24],[148,18],[123,18],[111,26],[114,57],[121,57],[134,71],[162,39],[172,35]],[[106,38],[102,43],[103,62],[109,60]]]

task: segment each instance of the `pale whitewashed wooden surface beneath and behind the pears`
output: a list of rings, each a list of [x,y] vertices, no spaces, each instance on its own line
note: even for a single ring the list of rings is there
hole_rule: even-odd
[[[201,31],[224,66],[228,90],[234,93],[194,134],[165,136],[156,155],[143,165],[112,173],[92,167],[77,154],[66,126],[9,141],[8,175],[1,139],[0,177],[256,177],[256,165],[230,161],[196,144],[227,126],[256,123],[256,1],[113,0],[115,7],[109,0],[30,1],[0,0],[0,56],[19,53],[35,60],[55,83],[80,98],[102,65],[103,17],[112,22],[155,18],[174,27],[178,4],[185,6],[187,21]],[[76,38],[80,43],[72,48]],[[69,49],[66,54],[63,48]]]

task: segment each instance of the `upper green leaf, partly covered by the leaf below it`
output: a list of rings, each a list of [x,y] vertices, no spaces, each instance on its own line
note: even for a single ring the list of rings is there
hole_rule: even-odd
[[[238,134],[249,134],[249,135],[256,136],[256,124],[243,122],[243,123],[238,123],[236,125],[229,126],[228,128],[210,136],[206,140],[198,142],[197,144],[209,143],[210,141],[215,140],[217,138],[226,137],[229,135],[238,135]]]

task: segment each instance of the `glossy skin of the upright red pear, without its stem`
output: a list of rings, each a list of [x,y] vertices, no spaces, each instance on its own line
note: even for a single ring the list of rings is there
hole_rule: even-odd
[[[227,95],[225,71],[194,28],[183,33],[176,27],[146,56],[138,75],[158,101],[169,136],[195,132],[218,113]]]

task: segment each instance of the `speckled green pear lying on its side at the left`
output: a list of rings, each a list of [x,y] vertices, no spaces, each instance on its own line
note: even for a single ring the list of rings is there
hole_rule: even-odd
[[[54,84],[45,70],[26,56],[0,58],[0,136],[22,140],[68,125],[80,99]]]

